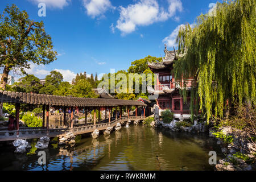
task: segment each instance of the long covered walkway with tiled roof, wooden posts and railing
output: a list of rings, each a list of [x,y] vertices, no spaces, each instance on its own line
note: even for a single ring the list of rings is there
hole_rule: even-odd
[[[125,122],[135,119],[144,119],[146,104],[140,101],[117,100],[108,98],[78,98],[78,97],[64,97],[52,96],[46,94],[32,94],[22,92],[7,92],[0,91],[0,102],[14,103],[15,104],[15,119],[16,130],[0,130],[0,141],[15,140],[15,139],[31,139],[40,138],[43,136],[60,137],[69,132],[75,135],[91,133],[93,130],[106,130],[108,127],[114,127],[118,122]],[[20,127],[19,128],[19,113],[20,104],[42,105],[43,106],[43,127]],[[64,126],[63,128],[49,128],[49,106],[58,106],[63,108],[64,111]],[[128,110],[128,116],[122,117],[122,107],[125,106]],[[129,115],[129,109],[135,106],[135,116]],[[144,115],[137,115],[137,107],[140,106],[144,109]],[[83,125],[73,127],[73,112],[71,113],[71,123],[67,126],[66,123],[66,110],[67,107],[73,110],[74,107],[88,110],[94,110],[93,123],[87,123],[87,114],[85,114],[85,123]],[[102,123],[100,114],[98,115],[98,122],[96,122],[96,110],[100,113],[102,107],[109,109],[109,119],[106,118]],[[112,117],[112,109],[115,107],[115,118]],[[119,107],[119,118],[117,118],[117,107]],[[46,112],[46,114],[45,114]],[[46,120],[46,123],[45,123]],[[113,120],[113,121],[112,121]],[[1,128],[0,128],[1,129]]]

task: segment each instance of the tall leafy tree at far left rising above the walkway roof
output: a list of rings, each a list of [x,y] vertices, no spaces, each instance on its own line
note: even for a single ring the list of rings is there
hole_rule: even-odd
[[[11,70],[30,68],[30,63],[49,64],[56,59],[51,36],[46,34],[43,22],[34,22],[26,11],[7,6],[0,15],[0,65],[3,75],[0,88],[6,89]]]

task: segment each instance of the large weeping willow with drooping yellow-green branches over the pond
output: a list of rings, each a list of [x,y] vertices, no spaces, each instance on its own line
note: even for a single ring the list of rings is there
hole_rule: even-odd
[[[191,90],[191,112],[200,98],[207,121],[223,117],[234,102],[255,105],[255,0],[217,3],[212,14],[202,14],[192,28],[181,27],[175,79],[195,78]],[[183,96],[187,92],[183,90]]]

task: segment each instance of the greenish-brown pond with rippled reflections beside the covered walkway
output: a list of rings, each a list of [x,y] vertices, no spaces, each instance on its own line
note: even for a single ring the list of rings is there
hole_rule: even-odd
[[[27,154],[14,154],[12,146],[2,146],[0,170],[213,170],[209,151],[217,152],[217,161],[224,158],[208,134],[174,133],[141,124],[97,139],[76,140],[74,147],[49,144],[42,166],[38,164],[40,150],[35,147]]]

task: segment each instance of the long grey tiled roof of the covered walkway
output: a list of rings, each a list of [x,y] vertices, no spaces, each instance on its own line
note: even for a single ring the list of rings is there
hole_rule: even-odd
[[[118,100],[109,98],[80,98],[52,96],[46,94],[34,94],[23,92],[10,92],[0,90],[0,102],[52,105],[52,106],[121,106],[134,105],[146,106],[139,101]]]

